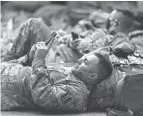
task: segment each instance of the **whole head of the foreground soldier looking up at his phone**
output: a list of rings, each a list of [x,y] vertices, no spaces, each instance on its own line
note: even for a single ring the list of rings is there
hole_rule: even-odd
[[[112,64],[105,55],[90,53],[78,60],[72,73],[85,84],[95,85],[111,75]]]

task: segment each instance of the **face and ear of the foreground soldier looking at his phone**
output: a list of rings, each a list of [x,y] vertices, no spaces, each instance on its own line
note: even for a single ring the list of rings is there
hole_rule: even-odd
[[[73,74],[87,84],[94,84],[98,79],[99,58],[93,54],[84,55],[78,60],[77,65],[72,70]]]

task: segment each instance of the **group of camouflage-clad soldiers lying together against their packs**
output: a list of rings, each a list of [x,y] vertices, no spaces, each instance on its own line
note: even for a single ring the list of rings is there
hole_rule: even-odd
[[[2,110],[114,107],[117,82],[143,70],[143,25],[128,9],[99,11],[103,20],[96,12],[71,33],[57,31],[48,50],[44,42],[52,31],[41,19],[21,25],[11,52],[2,57]]]

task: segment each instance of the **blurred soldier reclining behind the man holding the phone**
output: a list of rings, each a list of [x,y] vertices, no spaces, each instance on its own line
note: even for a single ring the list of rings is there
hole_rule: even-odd
[[[107,30],[105,30],[94,28],[93,25],[91,25],[91,22],[81,20],[79,21],[79,24],[77,24],[77,27],[73,28],[75,32],[77,30],[83,30],[80,31],[81,33],[77,34],[77,38],[72,38],[71,35],[61,37],[59,41],[61,40],[62,45],[57,51],[58,54],[60,54],[59,57],[62,57],[61,59],[63,62],[74,62],[80,58],[80,54],[75,51],[81,51],[84,54],[101,47],[115,46],[120,42],[127,43],[131,46],[131,49],[134,49],[135,51],[139,50],[143,53],[142,25],[134,19],[133,14],[129,10],[113,10],[107,22]],[[87,25],[91,28],[85,29]],[[132,46],[134,48],[132,48]],[[50,55],[50,57],[51,56],[52,55]],[[56,53],[52,58],[50,57],[48,57],[48,62],[58,62],[52,60],[56,57]]]

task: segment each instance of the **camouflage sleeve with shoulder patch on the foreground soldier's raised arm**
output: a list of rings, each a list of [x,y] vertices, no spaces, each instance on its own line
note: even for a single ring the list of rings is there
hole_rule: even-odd
[[[85,111],[89,94],[85,85],[62,79],[56,83],[43,64],[43,61],[33,62],[30,89],[34,103],[47,111]]]

